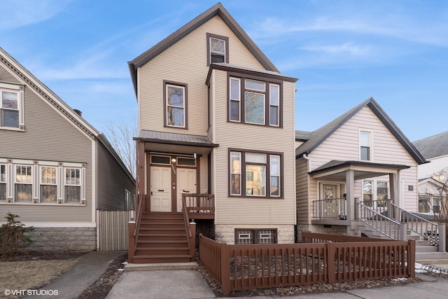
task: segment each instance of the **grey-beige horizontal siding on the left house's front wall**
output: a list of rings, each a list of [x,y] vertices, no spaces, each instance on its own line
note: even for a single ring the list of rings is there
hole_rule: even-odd
[[[3,74],[3,72],[2,72]],[[2,75],[2,78],[8,76]],[[8,79],[9,80],[9,79]],[[8,211],[27,222],[92,221],[92,139],[80,132],[34,91],[25,86],[25,132],[0,130],[0,157],[27,160],[86,163],[86,204],[0,204],[0,215]]]

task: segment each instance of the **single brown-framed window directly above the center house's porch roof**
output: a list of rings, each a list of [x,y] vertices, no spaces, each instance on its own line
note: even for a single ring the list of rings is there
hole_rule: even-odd
[[[187,85],[165,82],[165,127],[187,129]]]

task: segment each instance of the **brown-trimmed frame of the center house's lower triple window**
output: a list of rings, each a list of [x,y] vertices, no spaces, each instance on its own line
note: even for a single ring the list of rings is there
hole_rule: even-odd
[[[233,172],[232,169],[232,153],[239,154],[239,173]],[[246,153],[254,153],[254,154],[264,154],[266,155],[266,162],[246,162]],[[272,195],[272,157],[279,157],[279,173],[275,175],[278,177],[278,187],[279,195]],[[246,166],[247,165],[264,165],[265,166],[265,195],[248,195],[247,194],[247,181],[246,181]],[[269,152],[269,151],[256,151],[256,150],[247,150],[241,148],[229,148],[228,149],[228,196],[229,197],[246,197],[246,198],[262,198],[262,199],[283,199],[283,153],[280,152]],[[237,190],[232,186],[232,181],[235,181],[235,176],[239,175],[239,181],[236,185],[239,186],[239,192],[232,192],[232,190]],[[244,192],[243,192],[244,191]]]

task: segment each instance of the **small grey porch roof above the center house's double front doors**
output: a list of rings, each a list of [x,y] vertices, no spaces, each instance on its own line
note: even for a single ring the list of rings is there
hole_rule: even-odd
[[[170,153],[195,151],[198,154],[203,154],[209,153],[211,148],[219,146],[219,144],[211,142],[207,136],[149,130],[141,130],[139,137],[134,137],[134,140],[144,141],[150,146],[151,151],[169,151]]]

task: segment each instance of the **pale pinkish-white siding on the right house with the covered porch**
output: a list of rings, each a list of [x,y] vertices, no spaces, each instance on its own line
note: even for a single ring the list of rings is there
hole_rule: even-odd
[[[402,183],[399,184],[400,188],[404,189],[404,208],[408,211],[416,211],[418,208],[417,163],[367,106],[339,127],[311,153],[311,170],[330,160],[359,160],[360,129],[372,131],[372,162],[411,166],[409,169],[400,171]],[[374,179],[388,181],[388,176]],[[310,204],[318,197],[317,183],[316,180],[310,180],[310,188],[316,188],[316,193],[309,194]],[[414,186],[414,190],[409,191],[408,186]],[[354,197],[361,197],[361,181],[355,181]]]

